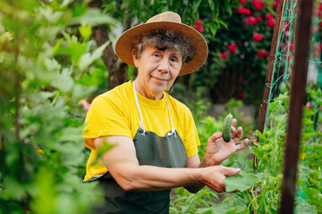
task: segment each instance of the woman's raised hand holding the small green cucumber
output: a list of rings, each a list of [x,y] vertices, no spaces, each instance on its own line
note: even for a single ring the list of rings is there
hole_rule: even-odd
[[[208,138],[207,151],[203,162],[206,167],[220,165],[222,161],[229,158],[234,152],[242,150],[249,143],[249,139],[244,139],[241,144],[237,144],[242,139],[242,128],[234,128],[237,120],[232,121],[232,139],[226,143],[221,132],[216,132]]]

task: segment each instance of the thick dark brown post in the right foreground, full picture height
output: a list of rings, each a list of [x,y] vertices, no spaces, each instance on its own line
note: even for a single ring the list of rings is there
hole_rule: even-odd
[[[299,0],[294,62],[292,66],[292,85],[290,112],[287,127],[282,199],[279,213],[293,213],[296,193],[296,173],[301,144],[302,106],[305,101],[305,87],[308,71],[309,40],[314,0]]]

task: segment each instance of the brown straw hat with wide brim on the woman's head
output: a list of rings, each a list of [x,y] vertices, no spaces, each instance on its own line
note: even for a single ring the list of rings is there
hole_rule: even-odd
[[[172,29],[181,33],[188,39],[195,49],[191,62],[184,65],[179,75],[189,74],[198,70],[206,61],[208,45],[206,40],[196,29],[182,24],[180,16],[175,12],[163,12],[150,18],[146,23],[135,26],[123,32],[115,43],[115,53],[125,63],[135,66],[132,58],[133,41],[136,37],[143,36],[157,29]]]

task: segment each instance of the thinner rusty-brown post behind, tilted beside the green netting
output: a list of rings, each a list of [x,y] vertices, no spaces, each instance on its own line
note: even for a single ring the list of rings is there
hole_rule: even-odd
[[[284,5],[286,0],[278,0],[277,8],[276,8],[276,15],[275,15],[275,26],[273,30],[273,37],[272,37],[272,45],[270,49],[270,53],[268,56],[268,65],[267,65],[267,77],[265,80],[265,87],[264,87],[264,95],[263,100],[260,108],[260,116],[259,116],[259,124],[258,124],[258,131],[263,133],[264,126],[265,126],[265,119],[267,116],[267,100],[269,98],[270,93],[270,87],[272,84],[272,78],[273,78],[273,70],[275,64],[273,63],[275,60],[275,53],[278,45],[278,38],[281,32],[281,26],[283,21],[283,13],[284,13]],[[259,141],[259,139],[258,139]],[[257,165],[257,159],[256,156],[254,156],[253,161],[253,169],[256,169]]]

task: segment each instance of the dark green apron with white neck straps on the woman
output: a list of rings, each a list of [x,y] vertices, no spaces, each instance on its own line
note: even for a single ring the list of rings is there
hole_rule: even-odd
[[[165,136],[157,136],[154,132],[145,131],[134,83],[133,89],[141,119],[140,128],[133,138],[140,165],[184,168],[188,160],[187,153],[182,139],[174,129],[171,114],[172,130]],[[169,105],[168,110],[170,113]],[[95,210],[95,213],[169,213],[171,189],[154,192],[126,192],[115,182],[109,172],[98,180],[99,185],[104,189],[106,203],[104,208]]]

